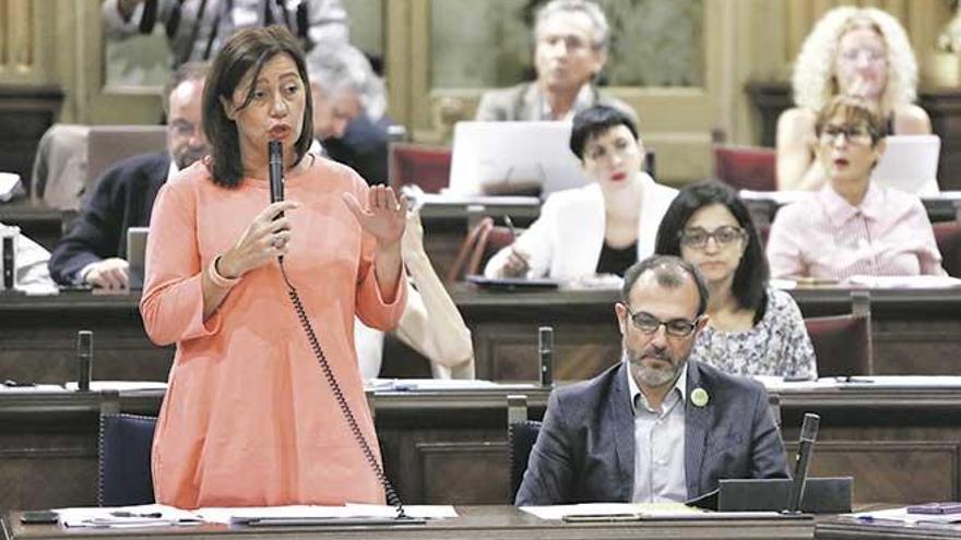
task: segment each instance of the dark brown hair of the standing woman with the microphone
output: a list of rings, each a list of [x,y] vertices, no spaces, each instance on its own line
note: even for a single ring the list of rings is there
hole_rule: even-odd
[[[300,139],[294,143],[297,161],[310,148],[313,139],[313,101],[310,92],[306,91],[310,87],[310,83],[304,51],[297,38],[290,34],[290,31],[280,25],[240,31],[227,40],[214,58],[213,68],[203,89],[203,131],[211,145],[211,176],[216,184],[234,188],[239,185],[244,178],[237,124],[227,118],[221,98],[233,101],[234,92],[245,75],[252,73],[250,80],[257,81],[263,65],[277,55],[288,55],[294,60],[305,88],[302,129]],[[254,86],[251,84],[240,106],[241,109],[253,99],[253,91]]]

